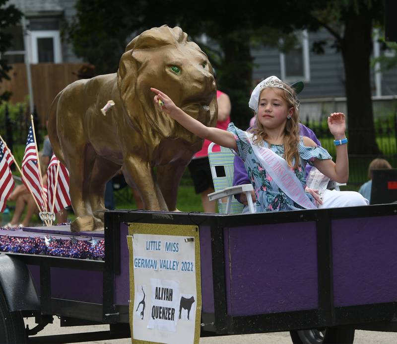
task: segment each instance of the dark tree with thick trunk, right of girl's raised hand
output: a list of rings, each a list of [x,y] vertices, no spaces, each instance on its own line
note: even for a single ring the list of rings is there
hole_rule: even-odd
[[[371,100],[371,53],[375,25],[383,24],[382,0],[331,0],[311,11],[314,27],[326,28],[341,52],[345,73],[350,154],[379,154]]]

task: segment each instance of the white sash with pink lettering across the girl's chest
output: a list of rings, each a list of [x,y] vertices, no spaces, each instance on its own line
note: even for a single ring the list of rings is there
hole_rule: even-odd
[[[254,145],[251,133],[245,132],[254,153],[266,172],[270,175],[277,186],[295,203],[305,209],[317,209],[310,201],[301,181],[288,166],[287,162],[268,148]]]

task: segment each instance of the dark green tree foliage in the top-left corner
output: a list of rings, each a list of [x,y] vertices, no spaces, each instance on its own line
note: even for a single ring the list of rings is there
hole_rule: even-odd
[[[8,72],[11,66],[8,65],[4,58],[4,52],[11,46],[12,35],[5,31],[6,28],[16,25],[22,17],[22,13],[14,5],[5,6],[7,0],[0,0],[0,82],[5,79],[9,80]],[[0,94],[0,104],[7,101],[11,92],[4,91]]]

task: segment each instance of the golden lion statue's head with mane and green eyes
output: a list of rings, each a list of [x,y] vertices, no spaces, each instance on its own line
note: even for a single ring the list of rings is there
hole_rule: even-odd
[[[143,32],[127,46],[118,72],[120,95],[133,124],[146,121],[160,136],[200,141],[154,104],[155,87],[205,125],[214,126],[217,115],[215,81],[207,56],[186,40],[178,27],[162,26]]]

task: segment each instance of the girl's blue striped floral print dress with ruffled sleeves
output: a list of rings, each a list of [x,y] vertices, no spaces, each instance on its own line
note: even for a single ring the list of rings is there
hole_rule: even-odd
[[[254,186],[255,194],[257,196],[256,212],[259,213],[303,209],[299,204],[295,203],[291,198],[289,198],[272,180],[271,176],[266,173],[265,168],[261,165],[258,158],[254,154],[245,132],[235,127],[233,123],[229,124],[227,131],[230,131],[234,134],[237,143],[237,152],[233,152],[243,160],[244,166],[248,172],[248,176],[250,177],[251,183]],[[264,142],[263,146],[270,149],[280,157],[283,157],[284,155],[284,145],[269,145],[267,142]],[[294,169],[294,172],[301,181],[302,187],[305,188],[306,163],[312,165],[312,162],[315,158],[321,160],[332,158],[327,150],[325,150],[323,147],[306,147],[303,144],[302,136],[299,142],[298,152],[300,157],[300,166]],[[316,204],[313,196],[308,192],[306,194],[310,200]]]

